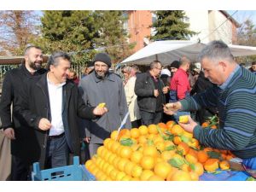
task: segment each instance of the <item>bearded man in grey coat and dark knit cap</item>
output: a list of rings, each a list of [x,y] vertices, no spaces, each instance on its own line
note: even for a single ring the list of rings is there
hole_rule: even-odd
[[[94,71],[80,80],[79,88],[86,105],[96,107],[105,102],[108,113],[96,120],[85,120],[85,142],[89,143],[90,157],[103,140],[110,137],[110,133],[119,128],[121,120],[128,112],[125,89],[122,79],[115,73],[109,72],[111,59],[107,54],[99,53],[95,56]],[[125,123],[125,128],[131,128],[131,120]]]

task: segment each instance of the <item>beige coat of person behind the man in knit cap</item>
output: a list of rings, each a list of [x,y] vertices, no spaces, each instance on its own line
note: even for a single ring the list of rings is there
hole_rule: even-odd
[[[131,77],[125,84],[126,102],[130,113],[131,121],[141,119],[137,105],[137,95],[134,92],[136,77]]]

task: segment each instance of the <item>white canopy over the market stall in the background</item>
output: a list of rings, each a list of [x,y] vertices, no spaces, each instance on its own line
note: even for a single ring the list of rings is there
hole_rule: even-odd
[[[148,65],[151,61],[158,60],[163,65],[168,65],[172,61],[178,61],[182,56],[187,56],[190,61],[196,61],[205,46],[206,44],[192,41],[155,41],[126,58],[121,64]],[[256,47],[231,44],[229,47],[234,56],[256,55]]]

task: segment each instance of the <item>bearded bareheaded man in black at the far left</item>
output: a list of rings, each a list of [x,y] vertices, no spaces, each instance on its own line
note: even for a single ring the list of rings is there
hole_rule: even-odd
[[[12,154],[12,180],[27,180],[32,162],[27,156],[32,153],[30,140],[32,130],[18,118],[17,113],[12,114],[12,108],[17,105],[20,97],[20,87],[24,80],[32,79],[33,76],[43,74],[45,69],[41,68],[43,63],[42,49],[29,46],[24,54],[25,63],[20,67],[12,69],[5,74],[3,79],[2,98],[0,102],[0,116],[3,123],[5,137],[11,139]]]

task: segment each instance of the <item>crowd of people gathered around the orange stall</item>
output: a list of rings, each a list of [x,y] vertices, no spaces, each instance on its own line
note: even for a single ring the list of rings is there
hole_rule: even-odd
[[[98,53],[79,79],[67,53],[54,52],[44,69],[42,49],[26,48],[24,63],[5,74],[0,102],[3,134],[11,141],[10,179],[30,180],[37,161],[43,169],[67,166],[82,145],[81,161],[88,160],[122,120],[127,129],[174,120],[202,145],[231,150],[256,169],[256,62],[241,67],[221,41],[199,58],[191,63],[183,55],[168,66],[152,61],[143,73],[125,66],[120,77],[110,71],[110,56]],[[178,122],[183,114],[191,115],[188,124]],[[214,114],[219,129],[202,129]]]

